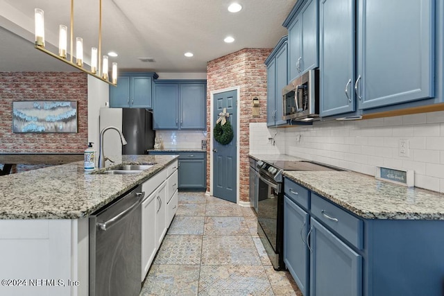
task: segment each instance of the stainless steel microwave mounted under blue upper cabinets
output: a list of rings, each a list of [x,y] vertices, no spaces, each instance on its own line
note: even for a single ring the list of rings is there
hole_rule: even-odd
[[[282,89],[282,119],[319,119],[319,70],[312,69],[291,80]]]

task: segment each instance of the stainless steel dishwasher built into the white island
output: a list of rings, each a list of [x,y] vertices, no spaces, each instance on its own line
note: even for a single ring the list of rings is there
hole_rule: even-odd
[[[139,295],[142,186],[89,216],[89,295]]]

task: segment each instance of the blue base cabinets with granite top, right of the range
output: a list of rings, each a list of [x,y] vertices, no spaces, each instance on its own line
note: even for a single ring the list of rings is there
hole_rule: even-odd
[[[443,295],[444,194],[350,171],[284,177],[284,262],[305,295]]]

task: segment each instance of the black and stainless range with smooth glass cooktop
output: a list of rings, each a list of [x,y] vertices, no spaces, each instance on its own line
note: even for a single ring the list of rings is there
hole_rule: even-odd
[[[257,161],[259,187],[257,233],[275,270],[284,270],[284,180],[282,171],[340,171],[305,161]]]

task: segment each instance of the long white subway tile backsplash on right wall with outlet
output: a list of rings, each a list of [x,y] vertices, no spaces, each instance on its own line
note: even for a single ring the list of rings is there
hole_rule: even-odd
[[[266,139],[276,130],[272,146]],[[400,139],[409,140],[409,157],[399,156]],[[284,153],[368,175],[376,166],[411,169],[417,187],[444,193],[444,112],[278,129],[250,123],[250,153]]]

